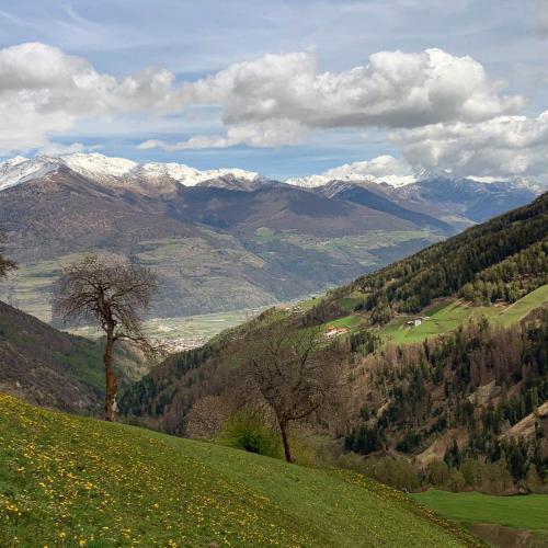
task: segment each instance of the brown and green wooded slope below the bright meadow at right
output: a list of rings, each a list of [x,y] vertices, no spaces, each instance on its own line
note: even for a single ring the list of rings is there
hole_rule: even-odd
[[[504,461],[506,489],[548,472],[546,307],[506,329],[473,321],[423,343],[388,344],[356,362],[352,378],[349,450],[445,463],[475,488],[486,480],[478,457]]]

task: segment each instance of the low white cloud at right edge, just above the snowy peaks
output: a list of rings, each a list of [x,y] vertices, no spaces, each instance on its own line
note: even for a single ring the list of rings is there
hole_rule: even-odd
[[[414,165],[460,175],[527,175],[548,182],[548,111],[536,118],[496,116],[439,123],[391,135]]]

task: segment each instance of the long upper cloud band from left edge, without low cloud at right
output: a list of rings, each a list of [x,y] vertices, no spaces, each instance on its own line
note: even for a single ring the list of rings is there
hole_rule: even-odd
[[[523,99],[502,95],[501,83],[472,58],[441,49],[380,52],[366,66],[336,73],[318,71],[309,53],[265,55],[179,87],[165,69],[116,78],[46,44],[0,49],[0,125],[10,128],[0,150],[44,146],[82,118],[205,104],[221,107],[225,136],[158,145],[272,147],[318,129],[478,122],[516,111]]]

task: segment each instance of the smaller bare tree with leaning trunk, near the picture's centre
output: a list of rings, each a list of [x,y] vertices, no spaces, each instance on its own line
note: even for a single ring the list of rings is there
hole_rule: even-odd
[[[340,353],[327,344],[322,329],[297,330],[281,322],[253,331],[241,346],[240,398],[274,414],[285,458],[293,463],[288,427],[335,400]]]

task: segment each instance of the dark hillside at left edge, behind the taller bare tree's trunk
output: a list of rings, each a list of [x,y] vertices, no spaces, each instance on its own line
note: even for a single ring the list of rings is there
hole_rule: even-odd
[[[122,385],[145,373],[140,359],[116,352]],[[42,406],[83,412],[102,403],[102,346],[69,335],[0,301],[0,389]]]

